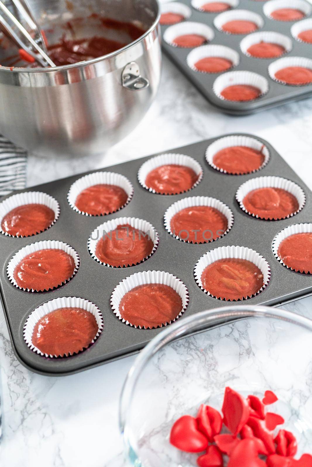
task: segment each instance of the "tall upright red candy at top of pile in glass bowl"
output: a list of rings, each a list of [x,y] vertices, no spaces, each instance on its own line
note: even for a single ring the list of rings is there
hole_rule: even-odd
[[[234,436],[237,436],[249,418],[250,407],[245,397],[227,387],[222,412],[225,426]]]

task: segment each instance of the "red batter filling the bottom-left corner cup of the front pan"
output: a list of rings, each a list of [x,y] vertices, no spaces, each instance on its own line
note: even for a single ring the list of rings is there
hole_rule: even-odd
[[[99,330],[92,313],[82,308],[58,308],[39,319],[32,344],[48,355],[63,357],[87,348]]]

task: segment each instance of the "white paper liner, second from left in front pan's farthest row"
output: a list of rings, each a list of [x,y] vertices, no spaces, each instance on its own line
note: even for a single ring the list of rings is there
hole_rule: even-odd
[[[94,172],[93,174],[85,175],[84,177],[79,178],[70,187],[67,194],[67,200],[74,211],[77,211],[85,216],[94,216],[94,214],[88,214],[87,212],[80,211],[80,209],[77,208],[75,203],[77,196],[81,193],[81,191],[85,190],[86,188],[89,188],[90,186],[98,184],[116,185],[120,188],[123,188],[123,190],[127,193],[128,199],[125,202],[125,204],[113,212],[120,211],[120,209],[123,209],[124,206],[130,203],[131,198],[133,196],[133,186],[128,180],[128,178],[115,172]],[[112,214],[113,212],[110,212],[110,214]]]

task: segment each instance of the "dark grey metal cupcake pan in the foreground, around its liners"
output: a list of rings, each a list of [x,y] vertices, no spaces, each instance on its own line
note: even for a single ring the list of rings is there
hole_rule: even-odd
[[[312,192],[290,169],[283,158],[266,141],[253,135],[264,144],[270,158],[267,165],[258,172],[248,175],[228,175],[211,167],[205,159],[207,147],[223,137],[171,149],[171,153],[191,156],[203,168],[203,179],[187,193],[160,195],[149,192],[138,181],[138,170],[151,159],[142,159],[114,165],[103,169],[112,170],[129,179],[134,188],[133,198],[123,209],[102,217],[84,216],[72,209],[67,201],[71,185],[82,175],[68,177],[48,184],[39,185],[29,191],[41,191],[51,195],[60,205],[58,220],[51,228],[32,237],[14,238],[0,235],[0,292],[7,326],[15,354],[19,361],[32,371],[44,375],[67,375],[101,365],[138,352],[149,340],[160,333],[158,329],[138,329],[124,325],[114,314],[110,298],[116,286],[125,278],[143,271],[165,271],[181,279],[189,293],[189,303],[183,319],[191,314],[216,306],[226,306],[228,302],[210,297],[200,290],[194,276],[198,260],[214,248],[231,245],[251,248],[269,264],[271,278],[268,285],[255,297],[244,300],[244,304],[278,305],[299,297],[312,294],[311,276],[285,268],[274,256],[272,241],[285,227],[292,224],[311,222]],[[160,154],[160,153],[159,153]],[[88,172],[91,173],[91,172]],[[252,178],[278,176],[298,184],[306,196],[304,208],[289,219],[266,221],[255,219],[244,212],[235,199],[239,186]],[[26,192],[27,190],[23,190]],[[231,230],[222,238],[203,244],[179,241],[170,235],[164,224],[164,214],[174,202],[188,196],[217,198],[227,205],[234,216]],[[156,251],[144,262],[127,268],[104,267],[95,261],[88,250],[90,234],[103,222],[120,217],[144,219],[151,223],[159,234]],[[7,277],[7,264],[21,248],[34,241],[57,240],[70,245],[80,257],[80,267],[75,276],[55,290],[47,292],[27,292],[17,289]],[[45,302],[58,297],[82,297],[94,303],[102,313],[103,329],[96,342],[80,354],[66,358],[46,358],[31,351],[23,338],[24,324],[30,313]]]

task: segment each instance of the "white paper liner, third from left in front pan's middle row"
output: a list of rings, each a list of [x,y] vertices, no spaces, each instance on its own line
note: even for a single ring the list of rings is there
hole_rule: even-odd
[[[193,242],[191,242],[189,240],[181,239],[178,235],[174,235],[174,233],[171,232],[171,227],[170,227],[170,222],[171,222],[171,219],[173,218],[174,214],[181,211],[182,209],[185,209],[187,207],[192,207],[192,206],[209,206],[209,207],[213,207],[215,209],[218,209],[218,211],[220,211],[222,214],[225,215],[225,217],[227,219],[227,229],[216,240],[218,240],[219,238],[224,237],[228,232],[230,232],[230,230],[231,230],[231,228],[233,226],[233,223],[234,223],[234,216],[233,216],[233,213],[232,213],[231,209],[225,203],[222,203],[222,201],[219,201],[216,198],[210,198],[208,196],[192,196],[192,197],[189,197],[189,198],[183,198],[183,199],[180,199],[179,201],[176,201],[174,204],[169,206],[167,211],[165,212],[165,215],[164,215],[165,228],[166,228],[167,232],[169,232],[170,235],[172,235],[174,238],[176,238],[177,240],[180,240],[180,241],[184,241],[184,243],[193,243]],[[194,226],[194,228],[195,228],[195,226]],[[215,240],[212,240],[212,239],[204,240],[203,239],[203,241],[198,242],[198,243],[209,243],[210,241],[215,241]],[[196,244],[198,244],[198,243],[196,243]]]

